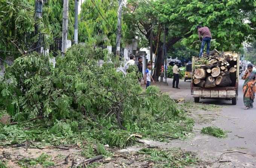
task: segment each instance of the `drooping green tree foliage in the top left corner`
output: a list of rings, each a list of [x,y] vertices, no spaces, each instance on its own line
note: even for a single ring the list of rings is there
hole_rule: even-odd
[[[24,0],[1,0],[0,9],[0,50],[27,51],[35,42],[34,6]]]

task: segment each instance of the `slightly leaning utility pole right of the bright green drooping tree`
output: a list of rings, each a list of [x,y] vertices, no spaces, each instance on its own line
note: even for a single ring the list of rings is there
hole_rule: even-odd
[[[116,55],[120,57],[120,41],[121,41],[121,17],[122,17],[123,0],[119,0],[117,10],[117,34],[116,34]]]

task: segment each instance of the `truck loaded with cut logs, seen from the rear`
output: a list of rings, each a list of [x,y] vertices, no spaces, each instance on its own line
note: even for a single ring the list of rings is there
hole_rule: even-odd
[[[195,102],[200,98],[231,99],[236,105],[238,97],[239,55],[234,52],[218,52],[192,58],[193,82],[191,94]]]

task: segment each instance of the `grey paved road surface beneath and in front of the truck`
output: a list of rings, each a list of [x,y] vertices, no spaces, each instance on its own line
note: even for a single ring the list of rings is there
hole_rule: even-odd
[[[172,79],[168,79],[169,86],[161,86],[162,90],[168,92],[172,98],[184,98],[194,100],[190,95],[190,82],[180,81],[181,89],[172,88]],[[200,99],[200,102],[206,104],[223,105],[223,109],[218,115],[224,118],[214,117],[215,120],[206,124],[195,124],[195,130],[201,130],[205,126],[218,126],[228,131],[227,138],[215,138],[212,136],[202,135],[195,132],[195,136],[186,141],[173,141],[171,145],[184,148],[186,150],[198,152],[204,160],[216,160],[221,153],[227,151],[242,151],[241,153],[227,153],[223,155],[223,160],[232,162],[216,163],[219,168],[256,168],[256,108],[243,110],[243,81],[239,80],[239,95],[237,105],[231,105],[231,101],[218,99]],[[255,103],[256,107],[256,103]],[[207,113],[207,112],[206,112]],[[239,136],[239,137],[238,137]],[[216,165],[207,167],[216,167]]]

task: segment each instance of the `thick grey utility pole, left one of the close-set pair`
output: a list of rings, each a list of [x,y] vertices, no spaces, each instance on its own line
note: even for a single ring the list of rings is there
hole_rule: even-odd
[[[68,14],[69,14],[69,0],[64,0],[63,16],[62,16],[62,47],[61,47],[62,57],[65,56],[66,50],[67,50]]]

